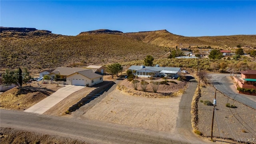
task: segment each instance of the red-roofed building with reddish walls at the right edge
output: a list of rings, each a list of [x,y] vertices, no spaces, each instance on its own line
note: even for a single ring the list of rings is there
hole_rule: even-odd
[[[234,80],[238,82],[240,88],[254,88],[256,89],[256,70],[240,71],[241,78],[234,76]]]

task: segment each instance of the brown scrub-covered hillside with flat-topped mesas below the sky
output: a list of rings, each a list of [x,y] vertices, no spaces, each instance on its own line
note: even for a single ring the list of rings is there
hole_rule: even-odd
[[[227,49],[237,44],[256,46],[256,35],[186,37],[166,30],[123,33],[112,30],[81,32],[77,36],[52,34],[47,30],[1,31],[1,68],[47,69],[143,60],[152,55],[167,58],[178,46],[211,46]]]

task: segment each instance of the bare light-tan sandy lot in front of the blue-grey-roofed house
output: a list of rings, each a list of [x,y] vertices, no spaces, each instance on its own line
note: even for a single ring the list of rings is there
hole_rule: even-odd
[[[147,96],[152,93],[142,91],[136,91],[136,94],[131,93],[132,88],[129,85],[130,82],[123,80],[119,86],[125,87],[124,89],[118,87],[119,89],[113,90],[95,106],[84,112],[82,118],[156,131],[174,130],[181,94],[167,98],[148,98]],[[169,88],[166,85],[162,87],[159,88],[161,92],[164,92],[164,89],[168,92],[178,91],[178,89],[171,89],[172,84]],[[183,88],[185,87],[186,83],[183,84]],[[137,95],[137,93],[140,94]]]

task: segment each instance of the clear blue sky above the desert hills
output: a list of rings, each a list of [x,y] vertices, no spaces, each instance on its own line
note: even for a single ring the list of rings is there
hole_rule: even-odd
[[[0,25],[76,36],[109,29],[182,36],[256,34],[256,1],[0,1]]]

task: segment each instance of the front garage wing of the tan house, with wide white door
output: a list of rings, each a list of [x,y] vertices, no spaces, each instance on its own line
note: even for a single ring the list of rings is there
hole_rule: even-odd
[[[74,72],[66,76],[66,84],[76,86],[93,86],[103,82],[103,76],[94,73],[91,69]]]

